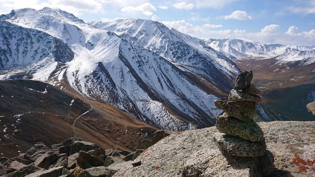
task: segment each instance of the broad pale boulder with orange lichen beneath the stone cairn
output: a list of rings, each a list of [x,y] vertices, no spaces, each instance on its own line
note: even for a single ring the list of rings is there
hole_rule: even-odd
[[[258,122],[267,149],[263,156],[233,158],[214,142],[216,127],[175,132],[136,158],[114,176],[313,176],[315,122]],[[273,154],[273,156],[272,156]],[[274,158],[274,167],[266,162]],[[266,165],[267,166],[264,166]]]

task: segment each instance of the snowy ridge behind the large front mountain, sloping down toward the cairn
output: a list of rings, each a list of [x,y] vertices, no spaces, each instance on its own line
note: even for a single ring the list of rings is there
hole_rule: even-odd
[[[99,29],[115,32],[131,41],[164,57],[183,71],[203,75],[212,83],[229,87],[228,80],[240,70],[225,54],[207,46],[202,39],[191,37],[164,24],[142,19],[116,19],[110,22],[89,23]]]

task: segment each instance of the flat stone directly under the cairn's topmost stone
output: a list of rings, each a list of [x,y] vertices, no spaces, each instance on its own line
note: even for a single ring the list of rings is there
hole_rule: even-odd
[[[232,89],[228,96],[228,100],[241,102],[260,102],[261,97],[257,95],[246,94],[245,92]]]

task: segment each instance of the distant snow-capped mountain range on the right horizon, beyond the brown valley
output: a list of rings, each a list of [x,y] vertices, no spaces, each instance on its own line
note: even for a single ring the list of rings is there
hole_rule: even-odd
[[[299,47],[280,44],[261,44],[242,39],[207,39],[207,45],[213,49],[230,54],[238,59],[273,58],[278,57],[282,62],[303,60],[315,57],[314,46]]]

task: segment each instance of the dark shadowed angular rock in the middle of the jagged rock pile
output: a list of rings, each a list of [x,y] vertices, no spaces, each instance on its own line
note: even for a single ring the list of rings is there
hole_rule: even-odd
[[[99,158],[85,151],[79,152],[76,162],[78,166],[80,166],[83,169],[96,167],[96,166],[102,166],[104,164],[104,162],[101,161]]]

